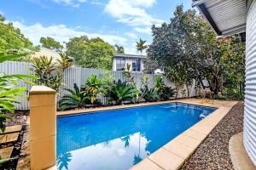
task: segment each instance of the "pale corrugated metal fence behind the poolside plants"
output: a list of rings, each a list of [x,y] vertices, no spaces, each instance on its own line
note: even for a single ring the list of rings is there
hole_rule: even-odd
[[[26,62],[18,62],[18,61],[6,61],[0,64],[0,73],[5,73],[7,75],[12,74],[31,74],[34,75],[33,71],[31,71],[32,65],[30,63]],[[125,81],[124,74],[122,71],[103,71],[103,70],[97,70],[97,69],[87,69],[87,68],[79,68],[79,67],[71,67],[64,71],[63,76],[63,86],[60,89],[60,92],[58,94],[58,99],[61,99],[61,96],[66,94],[67,92],[64,90],[64,88],[73,89],[73,84],[77,83],[79,87],[84,85],[87,77],[90,77],[92,74],[96,74],[99,77],[102,77],[106,73],[110,73],[113,75],[113,78],[118,81]],[[135,77],[135,82],[137,83],[137,88],[141,87],[141,77],[148,76],[149,77],[149,86],[150,88],[153,88],[155,77],[157,75],[148,75],[143,73],[132,73],[132,76]],[[172,82],[170,82],[166,77],[163,77],[164,81],[166,82],[167,86],[172,86]],[[26,94],[28,94],[31,85],[27,84],[25,82],[18,82],[17,87],[24,87],[26,86]],[[185,88],[183,88],[185,89]],[[182,93],[183,89],[180,90],[180,93],[178,94],[178,97],[188,97],[186,93]],[[195,83],[190,87],[189,89],[189,97],[194,97],[197,95],[196,89],[195,89]],[[28,95],[27,95],[28,96]],[[26,98],[20,98],[19,99],[20,104],[16,105],[17,110],[28,110],[28,99]],[[102,103],[106,103],[106,98],[102,98]]]

